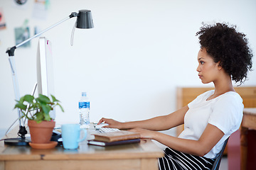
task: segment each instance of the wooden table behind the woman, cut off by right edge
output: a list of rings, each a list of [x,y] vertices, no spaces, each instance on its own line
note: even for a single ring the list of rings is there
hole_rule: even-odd
[[[241,169],[245,170],[247,162],[247,130],[256,130],[256,108],[245,108],[241,124],[240,151]]]

